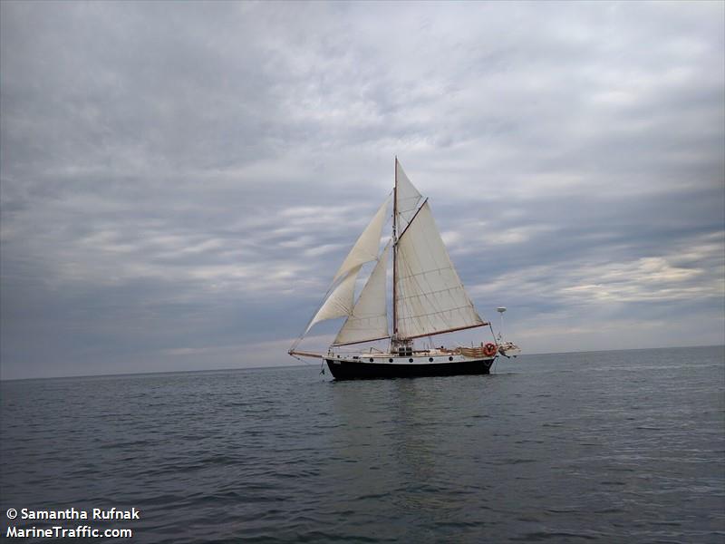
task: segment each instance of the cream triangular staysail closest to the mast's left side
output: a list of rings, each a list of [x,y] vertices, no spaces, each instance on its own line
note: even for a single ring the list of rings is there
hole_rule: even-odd
[[[385,279],[388,269],[390,244],[382,252],[378,264],[372,269],[362,293],[353,308],[353,314],[347,318],[343,328],[334,339],[334,345],[354,344],[387,338],[388,308],[386,303]]]

